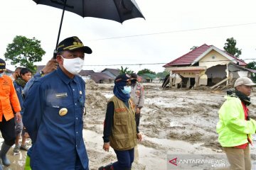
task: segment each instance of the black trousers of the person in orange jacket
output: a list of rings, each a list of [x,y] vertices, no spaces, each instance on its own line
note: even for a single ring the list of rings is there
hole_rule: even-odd
[[[0,130],[6,145],[14,145],[16,139],[14,118],[6,121],[3,115],[2,121],[0,122]]]

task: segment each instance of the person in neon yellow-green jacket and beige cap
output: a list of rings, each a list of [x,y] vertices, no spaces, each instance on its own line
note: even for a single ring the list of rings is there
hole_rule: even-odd
[[[251,169],[251,134],[256,131],[256,121],[250,118],[247,106],[251,104],[252,86],[256,84],[247,77],[235,81],[235,91],[227,91],[221,106],[216,130],[218,141],[230,163],[230,169]]]

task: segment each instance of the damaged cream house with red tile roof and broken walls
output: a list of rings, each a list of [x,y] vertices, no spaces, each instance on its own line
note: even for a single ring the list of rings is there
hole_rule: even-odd
[[[255,70],[245,68],[246,63],[213,45],[203,44],[165,64],[170,72],[170,86],[228,85],[238,77],[250,77]]]

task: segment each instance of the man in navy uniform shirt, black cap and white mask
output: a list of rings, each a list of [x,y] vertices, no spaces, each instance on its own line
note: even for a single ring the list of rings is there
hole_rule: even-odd
[[[23,124],[33,143],[31,169],[89,169],[82,138],[85,81],[81,71],[90,47],[78,37],[58,45],[57,70],[34,81],[24,101]]]

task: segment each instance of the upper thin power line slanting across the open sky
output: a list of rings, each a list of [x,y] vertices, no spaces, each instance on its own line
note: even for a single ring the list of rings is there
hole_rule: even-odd
[[[206,28],[186,29],[186,30],[170,30],[170,31],[159,32],[159,33],[146,33],[146,34],[138,34],[138,35],[125,35],[125,36],[112,37],[112,38],[99,38],[99,39],[94,39],[94,40],[89,40],[89,41],[110,40],[110,39],[119,39],[119,38],[133,38],[133,37],[146,36],[146,35],[159,35],[159,34],[167,34],[167,33],[181,33],[181,32],[193,31],[193,30],[208,30],[208,29],[215,29],[215,28],[235,27],[235,26],[249,26],[249,25],[255,25],[255,24],[256,23],[240,23],[240,24],[233,24],[233,25],[227,25],[227,26],[213,26],[213,27],[206,27]]]

